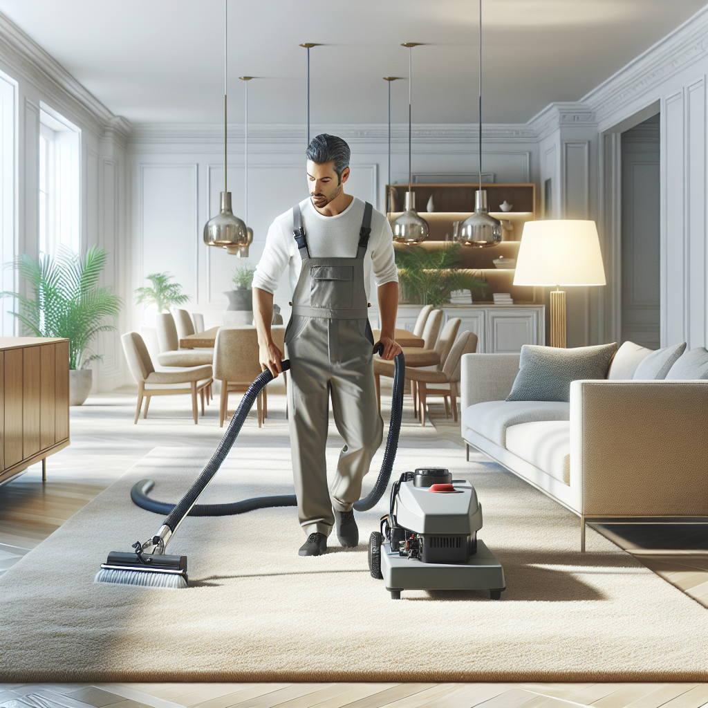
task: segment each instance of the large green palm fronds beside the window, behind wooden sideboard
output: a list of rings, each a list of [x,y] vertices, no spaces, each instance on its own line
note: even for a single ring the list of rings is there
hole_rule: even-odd
[[[84,257],[62,247],[56,258],[43,254],[35,261],[23,253],[6,265],[18,270],[30,293],[1,293],[18,301],[19,312],[11,314],[34,336],[68,338],[70,369],[101,359],[90,345],[99,332],[115,329],[107,320],[120,313],[122,300],[110,287],[98,287],[106,258],[96,246]]]

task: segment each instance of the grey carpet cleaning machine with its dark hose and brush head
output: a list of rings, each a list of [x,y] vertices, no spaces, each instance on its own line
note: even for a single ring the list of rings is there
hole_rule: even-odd
[[[383,353],[383,346],[377,344],[375,351]],[[289,369],[290,361],[283,360],[282,370]],[[401,353],[395,360],[391,421],[381,471],[369,495],[355,503],[357,511],[375,506],[389,484],[401,430],[405,372],[406,362]],[[154,486],[150,479],[132,487],[130,497],[137,506],[166,514],[166,518],[156,535],[145,542],[135,542],[132,552],[109,553],[96,573],[96,583],[186,588],[187,556],[168,555],[165,550],[188,515],[226,516],[254,509],[297,506],[294,494],[234,503],[197,503],[229,454],[256,397],[272,380],[273,375],[265,370],[249,386],[214,455],[178,503],[147,496]],[[401,590],[483,589],[490,591],[493,600],[498,600],[505,589],[504,571],[484,542],[476,537],[481,526],[481,506],[469,482],[453,480],[447,469],[404,472],[392,487],[389,513],[381,519],[380,530],[370,537],[371,574],[386,582],[394,599],[401,597]]]

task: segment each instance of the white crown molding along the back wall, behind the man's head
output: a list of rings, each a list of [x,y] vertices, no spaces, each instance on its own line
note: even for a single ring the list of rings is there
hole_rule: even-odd
[[[385,123],[369,125],[312,125],[311,132],[331,132],[353,144],[385,143],[388,141],[388,126]],[[244,140],[244,126],[229,125],[229,142]],[[292,144],[305,139],[304,125],[249,125],[249,143]],[[479,139],[479,129],[475,124],[440,123],[413,125],[413,140],[421,143],[473,142]],[[396,142],[408,139],[408,125],[391,126],[391,137]],[[482,127],[482,138],[488,142],[529,142],[535,140],[533,130],[527,125],[496,124]],[[137,123],[132,126],[130,144],[219,144],[224,140],[224,129],[215,123],[209,124],[165,124]]]

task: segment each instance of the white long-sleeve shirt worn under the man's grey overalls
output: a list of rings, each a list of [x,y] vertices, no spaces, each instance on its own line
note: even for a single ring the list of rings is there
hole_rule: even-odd
[[[321,215],[309,198],[300,202],[302,225],[312,258],[354,258],[359,244],[359,231],[364,218],[364,202],[358,197],[334,217]],[[274,293],[278,281],[289,268],[291,290],[295,290],[302,259],[292,235],[292,210],[281,214],[270,224],[265,249],[253,275],[253,287]],[[371,236],[364,256],[364,284],[370,299],[371,273],[376,286],[398,282],[393,234],[389,220],[377,210],[371,216]]]

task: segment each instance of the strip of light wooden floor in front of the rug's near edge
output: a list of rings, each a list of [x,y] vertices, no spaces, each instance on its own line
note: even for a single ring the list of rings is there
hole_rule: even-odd
[[[707,702],[708,685],[697,683],[0,684],[0,706],[7,708],[702,708]]]

